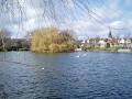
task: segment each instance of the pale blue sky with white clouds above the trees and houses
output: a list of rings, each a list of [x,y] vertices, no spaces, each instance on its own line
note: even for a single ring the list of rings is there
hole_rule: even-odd
[[[132,34],[132,0],[45,0],[46,6],[43,0],[18,1],[21,10],[16,0],[8,0],[10,9],[3,6],[0,10],[0,28],[11,31],[13,37],[51,25],[73,30],[79,38],[107,36],[108,26],[116,36]]]

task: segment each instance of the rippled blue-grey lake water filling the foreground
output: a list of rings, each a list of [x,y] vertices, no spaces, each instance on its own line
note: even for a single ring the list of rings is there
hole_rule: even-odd
[[[0,99],[132,99],[132,54],[0,53]]]

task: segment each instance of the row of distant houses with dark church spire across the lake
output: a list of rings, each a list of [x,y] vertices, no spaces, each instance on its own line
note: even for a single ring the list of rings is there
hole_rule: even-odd
[[[108,37],[91,37],[86,41],[81,41],[81,46],[86,47],[97,47],[97,48],[129,48],[132,50],[132,38],[120,38],[114,37],[109,31]]]

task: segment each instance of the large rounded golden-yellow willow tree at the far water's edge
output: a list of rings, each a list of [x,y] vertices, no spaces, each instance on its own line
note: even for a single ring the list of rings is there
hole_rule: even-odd
[[[34,31],[31,42],[31,51],[37,53],[73,52],[76,45],[68,31],[59,31],[56,28],[46,28]]]

